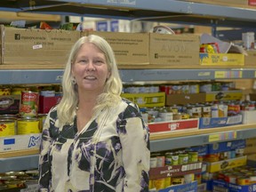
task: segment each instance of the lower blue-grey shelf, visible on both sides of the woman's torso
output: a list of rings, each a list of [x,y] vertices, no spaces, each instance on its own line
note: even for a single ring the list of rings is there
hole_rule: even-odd
[[[190,132],[151,133],[150,151],[156,152],[175,148],[187,148],[191,146],[204,145],[211,143],[211,141],[209,141],[211,136],[227,136],[227,134],[236,137],[233,139],[230,138],[229,140],[243,140],[252,138],[254,135],[256,135],[256,124],[238,124],[235,126],[203,129]],[[226,140],[228,140],[227,137]],[[34,154],[28,156],[0,158],[0,172],[36,169],[38,167],[38,157],[38,155]]]

